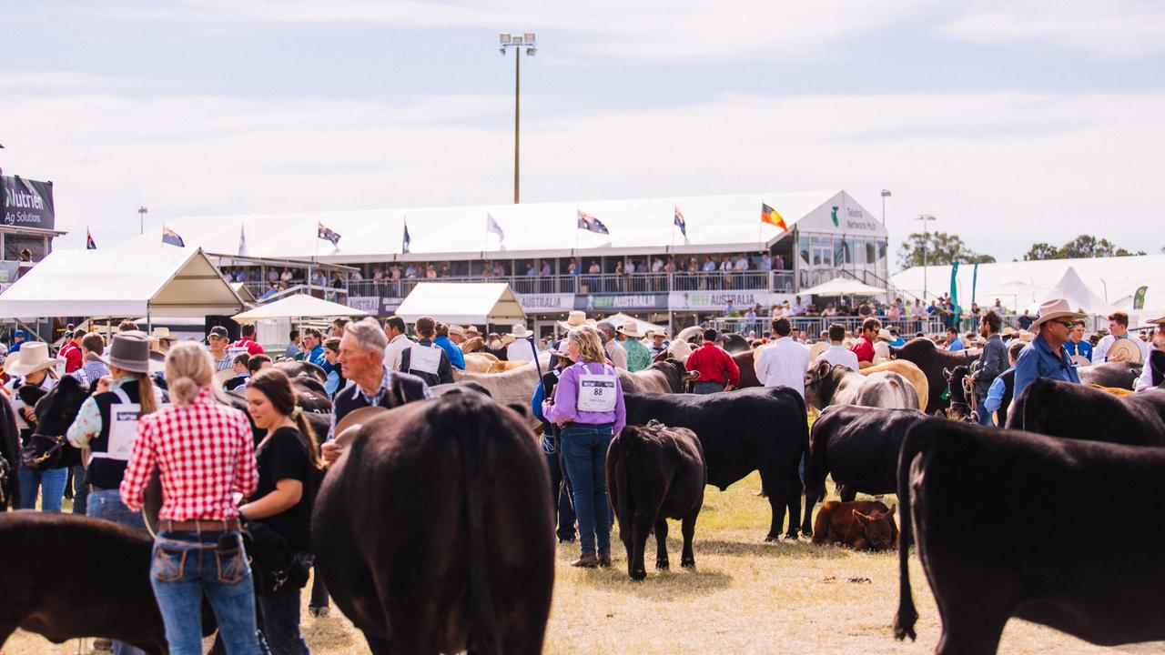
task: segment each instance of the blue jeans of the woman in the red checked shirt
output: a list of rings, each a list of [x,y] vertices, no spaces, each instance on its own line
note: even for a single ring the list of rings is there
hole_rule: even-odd
[[[220,548],[221,545],[226,548]],[[239,533],[162,531],[154,542],[150,584],[165,622],[170,655],[202,655],[203,593],[228,655],[260,655],[255,591]]]

